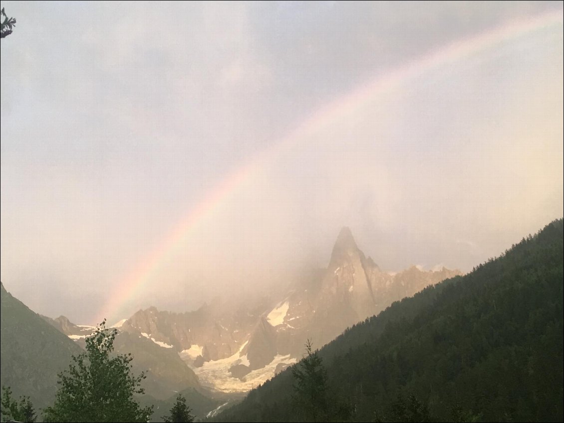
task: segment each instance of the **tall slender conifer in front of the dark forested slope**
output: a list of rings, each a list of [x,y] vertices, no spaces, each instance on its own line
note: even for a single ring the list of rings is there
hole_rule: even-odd
[[[306,357],[292,367],[294,377],[294,403],[306,418],[312,421],[325,420],[327,411],[327,370],[318,351],[312,351],[311,341],[307,340]]]

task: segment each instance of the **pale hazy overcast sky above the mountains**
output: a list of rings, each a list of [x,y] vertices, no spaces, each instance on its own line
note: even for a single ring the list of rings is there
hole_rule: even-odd
[[[343,225],[469,271],[564,214],[562,2],[2,7],[1,278],[38,313],[95,323],[151,260],[105,317],[284,286]]]

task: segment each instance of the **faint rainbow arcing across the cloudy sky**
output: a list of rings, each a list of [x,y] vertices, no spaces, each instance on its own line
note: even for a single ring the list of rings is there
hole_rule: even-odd
[[[127,304],[136,292],[142,290],[166,259],[183,244],[191,231],[203,220],[211,217],[214,210],[232,198],[237,190],[244,185],[245,181],[249,181],[254,176],[257,176],[281,152],[289,150],[300,143],[300,141],[323,131],[330,123],[342,121],[342,119],[354,115],[370,101],[377,100],[378,97],[386,92],[396,90],[400,85],[412,81],[413,78],[442,66],[460,63],[461,60],[467,57],[484,51],[489,47],[495,47],[505,41],[511,41],[528,33],[562,25],[562,22],[561,12],[550,12],[524,21],[504,25],[462,41],[453,42],[390,73],[380,75],[373,81],[316,110],[314,114],[299,124],[295,130],[272,143],[268,149],[256,154],[243,166],[227,175],[208,194],[204,195],[197,206],[188,211],[187,215],[173,226],[162,241],[146,257],[139,261],[139,265],[120,280],[116,290],[99,310],[96,322],[99,323],[107,317],[122,318],[119,314],[122,312],[124,305]]]

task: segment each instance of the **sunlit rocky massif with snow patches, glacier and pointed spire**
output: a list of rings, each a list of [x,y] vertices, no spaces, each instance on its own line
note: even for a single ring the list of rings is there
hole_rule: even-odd
[[[350,229],[343,228],[327,269],[294,284],[274,302],[215,302],[190,313],[151,307],[135,313],[122,330],[170,346],[204,385],[248,390],[301,358],[307,339],[321,347],[392,302],[457,274],[416,266],[385,273],[360,251]]]

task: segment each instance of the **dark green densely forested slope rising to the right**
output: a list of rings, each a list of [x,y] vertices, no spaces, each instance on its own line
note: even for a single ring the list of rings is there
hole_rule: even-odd
[[[329,397],[350,421],[562,421],[563,233],[554,221],[347,330],[320,351]],[[292,384],[285,371],[219,420],[302,421]]]

